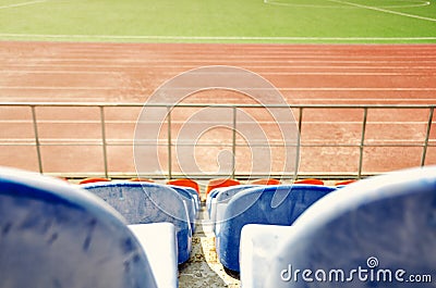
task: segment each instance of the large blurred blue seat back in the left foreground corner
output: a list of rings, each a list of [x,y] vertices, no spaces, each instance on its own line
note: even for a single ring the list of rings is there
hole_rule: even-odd
[[[80,188],[0,167],[0,287],[157,287],[125,224]]]

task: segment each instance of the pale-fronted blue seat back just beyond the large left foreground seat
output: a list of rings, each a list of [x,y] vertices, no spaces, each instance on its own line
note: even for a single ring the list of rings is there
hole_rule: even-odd
[[[190,216],[182,197],[172,188],[134,181],[96,183],[82,187],[107,201],[129,224],[172,223],[177,230],[179,264],[190,258]]]

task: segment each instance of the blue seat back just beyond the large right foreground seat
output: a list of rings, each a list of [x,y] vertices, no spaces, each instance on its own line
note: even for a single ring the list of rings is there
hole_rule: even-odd
[[[334,191],[316,185],[259,186],[237,193],[228,203],[216,246],[221,264],[240,271],[241,229],[246,224],[291,225],[310,205]]]

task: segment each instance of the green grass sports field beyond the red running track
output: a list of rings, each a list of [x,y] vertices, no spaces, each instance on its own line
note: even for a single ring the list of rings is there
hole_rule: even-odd
[[[435,0],[1,0],[0,39],[436,42]]]

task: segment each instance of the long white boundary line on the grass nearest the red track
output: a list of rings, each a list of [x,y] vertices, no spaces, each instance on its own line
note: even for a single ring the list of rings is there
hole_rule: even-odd
[[[366,8],[366,7],[364,7]],[[370,7],[367,7],[370,8]],[[389,11],[389,10],[386,10]],[[384,12],[386,12],[384,11]],[[389,11],[391,13],[397,13]],[[399,12],[398,12],[399,13]],[[397,14],[398,14],[397,13]],[[404,14],[404,13],[401,13]],[[404,14],[409,15],[409,14]],[[413,15],[409,15],[413,16]],[[420,16],[415,16],[420,17]],[[425,17],[422,17],[425,18]],[[426,18],[433,20],[433,18]],[[52,34],[10,34],[0,33],[0,38],[43,38],[43,39],[95,39],[95,40],[265,40],[265,41],[417,41],[436,40],[435,36],[416,37],[257,37],[257,36],[162,36],[162,35],[52,35]]]

